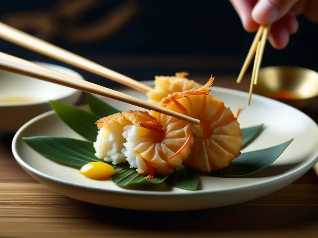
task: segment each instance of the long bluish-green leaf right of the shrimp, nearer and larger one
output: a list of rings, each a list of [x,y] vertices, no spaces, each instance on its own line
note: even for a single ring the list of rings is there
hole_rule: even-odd
[[[293,139],[273,147],[241,154],[228,167],[213,172],[211,175],[218,177],[241,177],[256,173],[271,165],[292,141]]]

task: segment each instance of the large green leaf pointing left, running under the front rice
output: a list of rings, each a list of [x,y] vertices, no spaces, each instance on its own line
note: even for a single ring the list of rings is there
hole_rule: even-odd
[[[95,156],[95,149],[92,142],[81,141],[65,137],[51,136],[33,136],[24,137],[26,142],[32,149],[37,151],[49,159],[61,162],[63,164],[82,167],[90,162],[104,162]],[[129,168],[129,163],[121,163],[111,165],[116,174],[110,179],[119,186],[126,186],[138,183],[161,183],[168,176],[156,175],[152,179],[145,179],[145,175],[140,175],[134,168]]]

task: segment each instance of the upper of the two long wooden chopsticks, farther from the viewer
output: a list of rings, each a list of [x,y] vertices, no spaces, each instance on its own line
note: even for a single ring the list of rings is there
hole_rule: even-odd
[[[0,22],[0,38],[146,93],[152,88]]]

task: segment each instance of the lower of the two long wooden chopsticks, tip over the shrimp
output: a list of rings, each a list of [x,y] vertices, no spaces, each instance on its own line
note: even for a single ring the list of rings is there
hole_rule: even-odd
[[[192,118],[190,116],[177,113],[164,107],[160,107],[159,105],[153,104],[151,102],[143,101],[139,98],[135,98],[124,93],[117,92],[115,90],[108,89],[100,85],[57,72],[52,69],[45,68],[35,63],[31,63],[29,61],[17,58],[15,56],[7,55],[2,52],[0,52],[0,69],[4,69],[6,71],[10,71],[13,73],[22,74],[25,76],[38,78],[47,82],[60,84],[84,92],[109,97],[138,107],[142,107],[144,109],[149,109],[162,114],[166,114],[168,116],[173,116],[196,125],[200,124],[199,120]]]

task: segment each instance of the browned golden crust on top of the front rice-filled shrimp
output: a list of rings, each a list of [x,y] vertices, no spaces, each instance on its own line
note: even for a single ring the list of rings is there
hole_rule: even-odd
[[[160,124],[158,119],[154,116],[149,115],[148,112],[144,111],[127,110],[103,117],[95,123],[97,124],[98,129],[100,129],[103,126],[107,125],[107,123],[110,121],[117,122],[122,126],[142,126],[148,129],[156,130],[158,132],[163,132],[162,125]]]

